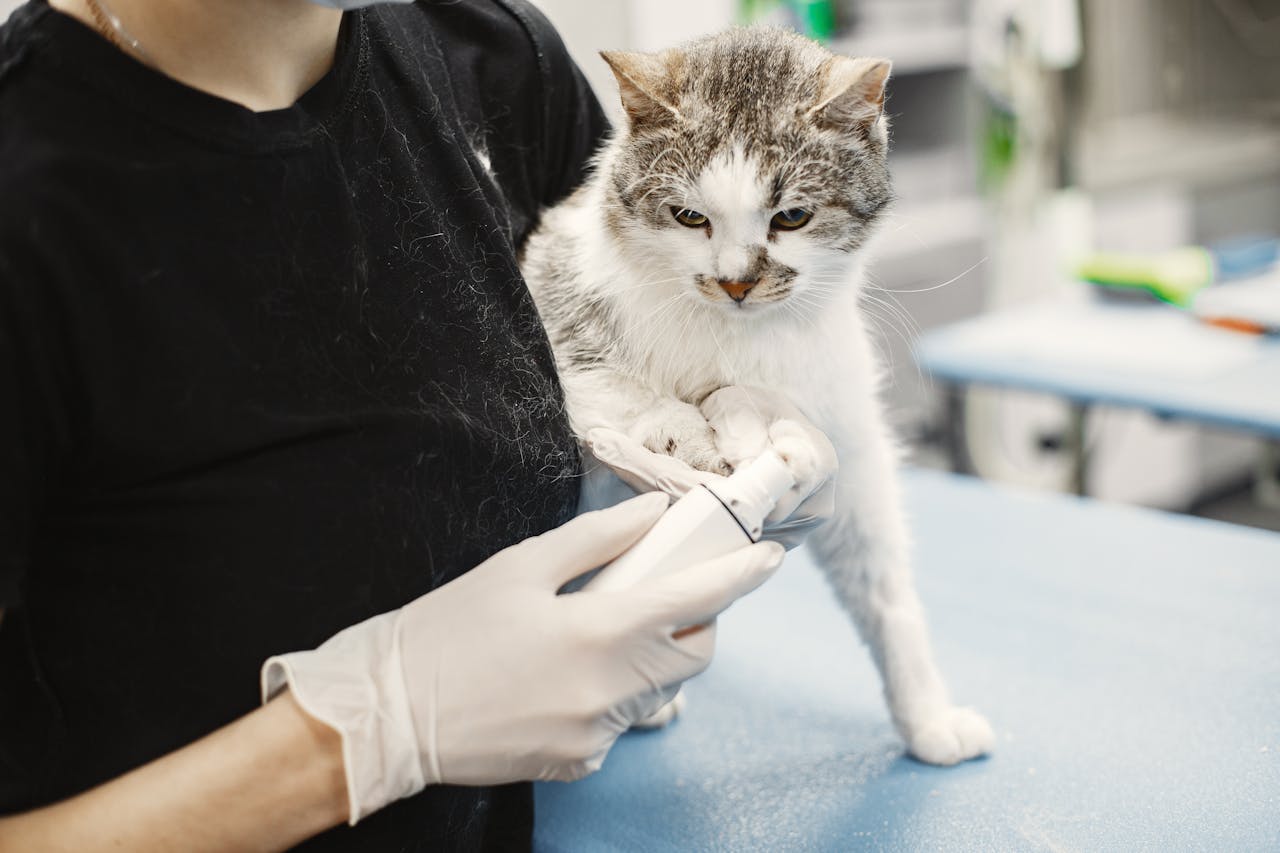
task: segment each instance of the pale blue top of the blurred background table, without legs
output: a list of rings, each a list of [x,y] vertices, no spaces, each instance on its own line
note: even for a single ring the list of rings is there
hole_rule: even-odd
[[[1096,336],[1101,355],[1082,359],[1080,350],[1056,352],[1052,343],[1043,348],[1028,347],[1025,338],[1018,334],[1016,320],[1024,318],[1027,323],[1043,324],[1046,314],[1057,314],[1061,325],[1056,330],[1075,332],[1079,339]],[[915,357],[923,370],[948,382],[1012,387],[1085,403],[1132,406],[1161,416],[1280,438],[1280,338],[1210,329],[1181,315],[1185,333],[1169,334],[1170,324],[1164,320],[1170,315],[1180,313],[1164,305],[1033,305],[932,329],[916,342]],[[1126,321],[1133,327],[1135,352],[1132,360],[1125,357],[1125,341],[1114,339],[1123,333]],[[1155,338],[1149,336],[1152,327],[1157,330]],[[1055,329],[1053,325],[1043,328]],[[1231,343],[1251,350],[1251,356],[1221,371],[1193,371],[1187,377],[1179,377],[1176,370],[1153,370],[1152,365],[1158,365],[1162,353],[1137,352],[1160,346],[1171,351],[1167,353],[1170,361],[1184,361],[1199,346],[1208,346],[1220,355],[1222,347]]]

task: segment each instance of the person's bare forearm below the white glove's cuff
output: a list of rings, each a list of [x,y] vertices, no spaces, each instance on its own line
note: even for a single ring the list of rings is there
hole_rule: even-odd
[[[346,820],[338,734],[283,693],[92,790],[0,817],[0,850],[283,850]]]

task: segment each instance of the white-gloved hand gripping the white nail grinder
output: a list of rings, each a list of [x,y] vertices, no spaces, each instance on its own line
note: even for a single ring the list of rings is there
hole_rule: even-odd
[[[262,666],[342,735],[351,822],[426,785],[572,780],[710,662],[703,625],[782,560],[755,544],[616,592],[557,596],[667,507],[646,494],[498,552],[401,610]]]

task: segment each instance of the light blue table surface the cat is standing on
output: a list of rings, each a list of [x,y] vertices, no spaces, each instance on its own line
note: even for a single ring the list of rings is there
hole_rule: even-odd
[[[680,720],[536,786],[536,849],[1280,850],[1280,534],[906,485],[937,656],[989,758],[904,756],[800,549],[721,619]]]

